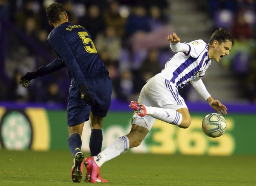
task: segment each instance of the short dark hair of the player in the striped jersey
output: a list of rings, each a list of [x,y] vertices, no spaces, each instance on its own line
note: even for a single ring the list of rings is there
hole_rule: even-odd
[[[219,43],[223,43],[223,42],[232,42],[232,46],[234,46],[235,42],[233,37],[229,34],[229,32],[224,29],[224,28],[219,28],[219,30],[216,30],[210,40],[209,40],[209,44],[212,45],[212,43],[214,41],[218,41]]]

